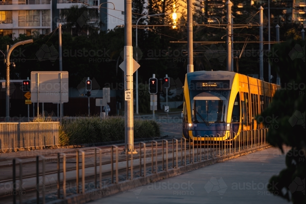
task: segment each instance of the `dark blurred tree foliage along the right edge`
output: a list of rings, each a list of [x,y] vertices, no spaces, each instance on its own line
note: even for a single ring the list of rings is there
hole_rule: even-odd
[[[291,150],[286,154],[286,169],[270,180],[271,184],[278,183],[277,189],[270,191],[274,191],[274,194],[278,191],[279,196],[293,203],[306,203],[305,41],[290,40],[274,48],[279,50],[279,61],[272,63],[271,67],[281,78],[281,89],[276,92],[262,116],[274,118],[273,124],[267,122],[270,120],[265,122],[271,127],[267,135],[268,142],[282,151],[282,145],[291,147]]]

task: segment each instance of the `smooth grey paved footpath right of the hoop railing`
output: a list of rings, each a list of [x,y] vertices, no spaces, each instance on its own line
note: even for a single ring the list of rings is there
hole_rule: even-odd
[[[288,203],[266,188],[284,168],[285,155],[272,147],[89,203]]]

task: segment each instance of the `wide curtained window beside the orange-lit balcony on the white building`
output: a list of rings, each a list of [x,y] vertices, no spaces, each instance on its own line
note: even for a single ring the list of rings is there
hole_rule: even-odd
[[[18,23],[23,26],[40,26],[39,10],[20,10],[18,11]]]

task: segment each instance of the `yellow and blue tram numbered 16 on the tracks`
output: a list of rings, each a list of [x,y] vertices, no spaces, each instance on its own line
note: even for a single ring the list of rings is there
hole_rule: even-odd
[[[228,140],[231,133],[263,128],[256,121],[278,85],[229,71],[186,74],[183,137],[189,141]],[[231,136],[236,139],[238,134]]]

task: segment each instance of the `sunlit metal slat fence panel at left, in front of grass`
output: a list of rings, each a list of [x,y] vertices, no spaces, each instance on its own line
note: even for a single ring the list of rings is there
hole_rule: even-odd
[[[0,123],[0,151],[59,144],[59,122]]]

